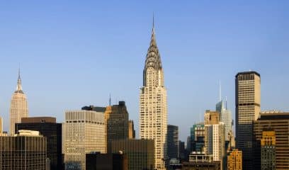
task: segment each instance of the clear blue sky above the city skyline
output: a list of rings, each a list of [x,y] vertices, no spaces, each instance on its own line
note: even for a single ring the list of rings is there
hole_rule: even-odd
[[[0,115],[18,63],[29,115],[124,100],[138,133],[139,88],[152,13],[168,91],[169,124],[186,140],[218,81],[234,115],[234,76],[261,74],[262,110],[289,111],[289,1],[2,1]],[[234,117],[234,116],[233,116]]]

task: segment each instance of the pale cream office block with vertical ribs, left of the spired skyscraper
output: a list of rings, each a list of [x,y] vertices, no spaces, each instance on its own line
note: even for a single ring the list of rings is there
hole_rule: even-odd
[[[66,111],[62,124],[62,153],[65,169],[86,167],[86,154],[106,152],[105,120],[96,111]]]

